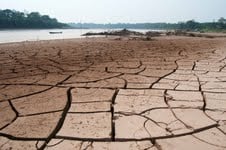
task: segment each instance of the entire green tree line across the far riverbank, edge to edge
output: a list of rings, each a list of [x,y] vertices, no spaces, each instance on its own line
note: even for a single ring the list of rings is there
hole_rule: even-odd
[[[191,31],[226,31],[226,19],[221,17],[216,22],[199,23],[195,20],[179,23],[60,23],[48,15],[38,12],[24,13],[16,10],[0,10],[0,29],[35,29],[35,28],[101,28],[101,29],[163,29],[163,30],[191,30]]]

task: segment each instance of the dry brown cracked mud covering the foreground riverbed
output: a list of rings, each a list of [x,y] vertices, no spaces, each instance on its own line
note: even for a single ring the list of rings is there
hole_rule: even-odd
[[[0,149],[225,150],[226,39],[0,45]]]

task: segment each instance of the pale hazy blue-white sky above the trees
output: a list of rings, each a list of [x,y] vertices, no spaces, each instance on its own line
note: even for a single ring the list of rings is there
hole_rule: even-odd
[[[177,23],[226,18],[226,0],[0,0],[0,9],[40,12],[82,23]]]

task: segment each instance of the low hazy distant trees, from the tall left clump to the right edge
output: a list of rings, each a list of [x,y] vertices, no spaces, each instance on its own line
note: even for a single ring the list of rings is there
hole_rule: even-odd
[[[95,24],[95,23],[70,23],[74,28],[101,28],[101,29],[163,29],[163,30],[191,30],[191,31],[222,31],[226,30],[226,19],[220,18],[217,22],[199,23],[189,20],[179,23],[116,23],[116,24]]]

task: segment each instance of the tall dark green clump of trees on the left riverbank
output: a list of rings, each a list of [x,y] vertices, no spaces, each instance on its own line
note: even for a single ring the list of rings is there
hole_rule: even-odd
[[[24,13],[20,11],[5,9],[0,10],[0,28],[62,28],[68,26],[60,23],[55,18],[48,15],[41,15],[38,12]]]

